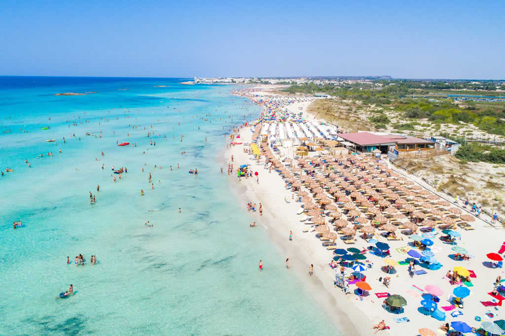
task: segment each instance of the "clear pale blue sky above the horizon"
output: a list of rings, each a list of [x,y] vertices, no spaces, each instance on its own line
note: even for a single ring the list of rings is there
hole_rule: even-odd
[[[0,75],[505,78],[505,1],[0,1]]]

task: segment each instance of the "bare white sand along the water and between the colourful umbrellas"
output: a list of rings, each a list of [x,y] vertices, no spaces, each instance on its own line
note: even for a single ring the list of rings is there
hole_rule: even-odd
[[[261,99],[261,93],[255,92],[253,100]],[[259,97],[260,96],[260,97]],[[307,115],[307,106],[309,102],[296,102],[287,104],[285,107],[289,113],[299,113],[300,110],[304,114],[304,118],[313,122],[316,121],[313,117]],[[240,138],[235,138],[235,141],[240,141],[241,145],[230,145],[225,152],[225,159],[230,162],[231,155],[234,157],[234,170],[230,178],[236,179],[237,193],[242,200],[242,203],[247,202],[262,203],[263,216],[258,215],[257,228],[251,230],[265,230],[268,232],[272,242],[276,244],[281,252],[284,252],[286,258],[289,258],[291,270],[300,278],[306,278],[306,284],[314,293],[314,299],[325,309],[329,316],[333,317],[335,324],[338,325],[344,334],[372,334],[372,326],[379,321],[384,320],[385,324],[390,327],[389,330],[379,331],[379,334],[419,334],[420,328],[429,328],[437,333],[445,334],[438,329],[441,324],[450,323],[452,321],[464,321],[468,325],[478,329],[481,322],[476,321],[475,317],[479,316],[482,321],[494,321],[501,319],[501,307],[484,306],[481,302],[498,303],[499,300],[491,297],[488,293],[493,290],[493,283],[497,276],[503,276],[503,268],[490,268],[490,260],[486,257],[488,253],[497,252],[503,242],[502,228],[499,226],[489,225],[490,218],[477,218],[471,215],[473,221],[471,225],[473,230],[457,231],[461,237],[457,238],[457,246],[468,251],[469,260],[454,260],[455,251],[451,248],[455,245],[444,244],[439,237],[443,236],[440,230],[436,229],[433,238],[434,256],[441,264],[441,268],[437,270],[425,269],[416,265],[416,270],[425,269],[425,274],[414,274],[409,276],[408,265],[395,266],[396,273],[389,274],[390,285],[386,288],[379,278],[388,276],[383,270],[385,266],[384,259],[370,253],[367,248],[369,244],[358,236],[356,233],[355,244],[343,244],[340,239],[337,239],[336,248],[347,249],[350,247],[358,248],[360,251],[366,250],[364,253],[367,261],[373,263],[372,268],[368,268],[363,273],[366,275],[366,282],[371,286],[372,290],[368,291],[368,295],[358,296],[354,293],[355,286],[350,285],[351,294],[345,295],[340,288],[334,286],[335,270],[329,267],[328,263],[333,258],[333,251],[322,246],[322,241],[316,235],[316,232],[307,231],[308,226],[304,222],[300,222],[302,215],[296,214],[299,212],[302,203],[295,202],[297,198],[296,192],[285,188],[286,181],[275,170],[271,173],[265,165],[265,157],[262,155],[260,160],[256,159],[255,155],[250,155],[244,151],[244,147],[249,148],[251,135],[255,131],[255,126],[248,126],[240,129],[238,133]],[[288,156],[289,151],[286,148],[280,148],[280,151],[275,154],[276,158]],[[264,152],[262,152],[264,154]],[[292,156],[291,156],[292,157]],[[307,159],[310,159],[307,158]],[[293,160],[293,162],[295,162]],[[238,181],[235,167],[247,164],[248,169],[258,172],[259,183],[257,184],[254,176],[252,178]],[[449,200],[451,207],[461,209],[462,214],[469,214],[467,210],[462,208],[462,202],[454,203],[454,199],[443,193],[436,192],[421,179],[410,176],[407,172],[397,169],[394,166],[389,166],[390,169],[397,172],[399,176],[406,177],[413,181],[414,185],[419,185],[422,188],[418,190],[428,190],[429,194],[436,194],[441,200]],[[309,191],[308,189],[304,189]],[[428,194],[428,193],[427,193]],[[309,196],[310,196],[309,192]],[[486,219],[484,221],[483,219]],[[421,225],[419,225],[421,226]],[[456,227],[456,226],[455,226]],[[289,241],[289,231],[293,232],[293,240]],[[377,232],[378,233],[378,232]],[[409,239],[409,234],[397,233],[401,240],[388,241],[384,237],[377,235],[377,240],[389,244],[390,256],[394,261],[403,261],[410,256],[406,253],[409,250],[415,250],[412,246],[413,241]],[[257,262],[257,260],[251,260]],[[268,261],[264,260],[264,263]],[[309,276],[309,265],[314,264],[314,276]],[[460,284],[451,285],[449,278],[445,275],[448,270],[453,270],[454,267],[461,266],[473,271],[476,277],[471,278],[471,284],[462,285],[470,290],[470,296],[464,299],[464,308],[455,307],[448,300],[452,298],[454,289]],[[336,268],[338,269],[338,268]],[[438,295],[438,307],[446,307],[445,321],[437,320],[429,315],[422,314],[421,300],[430,297],[425,287],[428,285],[437,286],[442,290],[442,294]],[[383,307],[384,298],[378,298],[375,293],[387,292],[391,295],[397,294],[406,299],[407,305],[403,307],[404,312],[401,314],[393,314],[386,311]],[[494,300],[494,301],[493,301]],[[453,307],[451,309],[451,306]],[[491,312],[493,317],[486,315]],[[451,315],[451,313],[453,315]],[[408,322],[398,323],[397,318],[406,317]],[[404,319],[404,320],[406,320]],[[438,329],[438,330],[437,330]]]

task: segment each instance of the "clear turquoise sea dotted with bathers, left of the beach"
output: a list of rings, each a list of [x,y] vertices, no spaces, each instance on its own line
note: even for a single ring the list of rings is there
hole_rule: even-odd
[[[182,81],[0,77],[0,334],[337,333],[220,174],[260,108]]]

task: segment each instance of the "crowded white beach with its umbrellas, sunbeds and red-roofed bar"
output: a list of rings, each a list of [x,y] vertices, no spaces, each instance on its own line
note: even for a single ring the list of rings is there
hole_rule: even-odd
[[[263,204],[255,226],[286,237],[286,257],[315,269],[336,314],[361,334],[505,333],[501,208],[484,210],[397,164],[455,158],[461,143],[348,132],[309,113],[321,95],[272,85],[232,93],[263,107],[226,154],[259,174],[238,182]]]

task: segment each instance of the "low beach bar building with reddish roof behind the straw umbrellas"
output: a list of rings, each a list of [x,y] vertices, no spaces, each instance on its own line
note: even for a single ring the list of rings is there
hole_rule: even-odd
[[[354,149],[357,153],[383,154],[389,151],[412,152],[426,151],[434,148],[434,142],[430,140],[412,137],[403,134],[376,134],[371,132],[341,133],[339,137],[345,140],[348,149]],[[349,148],[350,147],[350,148]]]

